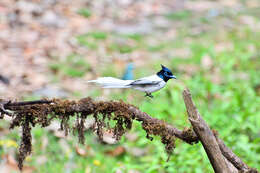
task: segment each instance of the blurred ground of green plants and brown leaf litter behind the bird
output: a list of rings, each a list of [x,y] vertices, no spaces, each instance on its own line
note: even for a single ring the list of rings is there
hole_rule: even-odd
[[[0,74],[10,81],[0,83],[1,97],[122,99],[183,129],[190,126],[182,99],[188,87],[210,127],[245,163],[260,169],[260,1],[3,1],[0,10]],[[130,62],[135,78],[164,64],[178,80],[154,99],[85,83],[120,78]],[[0,170],[16,172],[20,133],[8,130],[9,121],[0,121]],[[80,145],[58,128],[57,122],[33,128],[25,172],[213,172],[201,144],[177,140],[166,162],[159,138],[146,139],[136,122],[118,142],[108,132],[111,145],[91,131]]]

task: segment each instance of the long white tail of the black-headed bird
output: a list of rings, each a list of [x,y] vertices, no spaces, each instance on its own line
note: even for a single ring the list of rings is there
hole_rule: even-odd
[[[99,84],[102,88],[130,88],[131,86],[129,84],[133,82],[133,80],[121,80],[113,77],[101,77],[88,82]]]

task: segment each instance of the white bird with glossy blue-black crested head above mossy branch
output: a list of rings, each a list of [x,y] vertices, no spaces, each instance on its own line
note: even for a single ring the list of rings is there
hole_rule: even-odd
[[[100,77],[96,80],[90,80],[89,83],[95,83],[102,88],[132,88],[145,92],[145,96],[153,98],[152,93],[165,87],[170,79],[177,79],[172,71],[161,65],[161,70],[155,75],[143,77],[136,80],[121,80],[114,77]]]

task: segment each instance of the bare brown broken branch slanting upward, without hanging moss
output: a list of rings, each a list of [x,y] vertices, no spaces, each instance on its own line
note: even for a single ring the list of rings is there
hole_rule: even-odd
[[[218,137],[217,132],[214,131],[213,133],[210,130],[209,126],[202,119],[195,104],[193,103],[190,91],[188,89],[183,91],[183,99],[186,105],[189,120],[195,133],[202,142],[215,172],[237,172],[237,170],[234,170],[234,167],[240,172],[258,172],[256,169],[248,167],[247,164],[245,164],[236,154],[234,154],[233,151],[229,149]],[[221,151],[221,153],[219,151]],[[223,160],[223,157],[227,160]],[[229,163],[227,161],[229,161]],[[230,163],[234,167],[230,166]]]

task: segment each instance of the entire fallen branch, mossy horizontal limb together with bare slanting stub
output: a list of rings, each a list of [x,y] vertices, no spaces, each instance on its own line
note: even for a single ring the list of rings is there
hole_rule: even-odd
[[[92,115],[95,118],[96,133],[100,138],[103,135],[103,128],[111,128],[109,123],[105,123],[105,121],[113,120],[116,122],[112,131],[115,138],[119,140],[125,131],[132,127],[132,121],[136,120],[141,122],[148,139],[152,140],[150,135],[161,137],[161,141],[165,144],[165,149],[169,155],[175,147],[175,137],[188,144],[197,143],[200,140],[215,172],[237,172],[235,169],[238,169],[241,172],[256,173],[256,169],[249,168],[218,138],[216,133],[212,133],[197,111],[188,90],[184,90],[183,98],[194,131],[190,128],[179,130],[173,125],[153,118],[147,113],[140,111],[137,107],[124,102],[94,101],[91,98],[83,98],[79,101],[45,99],[29,102],[11,102],[0,100],[0,119],[3,114],[12,116],[13,120],[10,128],[21,126],[23,129],[18,157],[20,168],[22,168],[22,162],[25,157],[31,152],[30,133],[32,126],[39,124],[42,127],[46,127],[53,118],[58,118],[61,120],[61,129],[68,132],[71,128],[68,121],[71,117],[77,116],[75,126],[72,129],[78,132],[79,142],[83,143],[84,122],[87,116]]]

